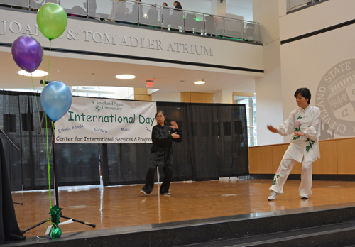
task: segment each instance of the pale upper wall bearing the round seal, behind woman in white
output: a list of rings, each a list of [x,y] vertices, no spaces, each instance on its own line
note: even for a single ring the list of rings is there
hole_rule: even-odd
[[[289,38],[354,19],[350,11],[354,8],[355,1],[329,0],[281,16],[281,36]],[[328,13],[332,13],[332,18]],[[290,23],[295,19],[301,20],[300,24],[290,33]],[[312,93],[311,105],[320,107],[322,113],[321,138],[355,136],[354,43],[352,24],[281,45],[284,117],[295,109],[295,103],[289,100],[295,88],[308,87]]]

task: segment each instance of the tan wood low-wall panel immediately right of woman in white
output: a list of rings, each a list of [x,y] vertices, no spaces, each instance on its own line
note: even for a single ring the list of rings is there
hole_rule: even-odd
[[[313,163],[313,174],[337,174],[337,141],[320,141],[320,160]]]

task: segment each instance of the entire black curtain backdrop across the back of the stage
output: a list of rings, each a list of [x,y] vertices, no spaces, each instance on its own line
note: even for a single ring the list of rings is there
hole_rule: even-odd
[[[0,91],[0,101],[0,128],[20,148],[1,136],[11,190],[48,188],[47,142],[53,188],[52,122],[41,124],[40,94]],[[249,175],[245,105],[157,102],[157,109],[184,134],[182,143],[173,143],[173,181]],[[100,165],[105,186],[143,183],[150,153],[151,144],[57,143],[57,185],[99,185]]]

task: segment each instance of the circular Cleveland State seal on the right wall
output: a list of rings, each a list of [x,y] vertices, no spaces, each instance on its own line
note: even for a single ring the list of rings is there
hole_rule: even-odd
[[[317,88],[322,124],[339,136],[355,135],[355,59],[331,67]]]

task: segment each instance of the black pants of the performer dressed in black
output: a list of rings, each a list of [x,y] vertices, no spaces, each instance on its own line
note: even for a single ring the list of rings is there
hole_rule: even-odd
[[[151,193],[151,191],[153,190],[154,177],[155,177],[155,172],[157,167],[158,165],[152,163],[149,164],[149,169],[146,175],[146,185],[144,185],[143,187],[143,190],[145,190],[148,193]],[[171,170],[170,165],[164,165],[163,170],[164,170],[164,180],[163,180],[163,184],[160,187],[160,194],[169,192],[170,180],[173,175],[173,171]]]

